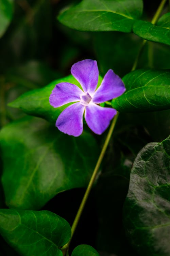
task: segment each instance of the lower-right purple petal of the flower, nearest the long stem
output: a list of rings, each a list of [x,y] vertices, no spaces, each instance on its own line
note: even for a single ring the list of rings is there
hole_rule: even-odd
[[[93,132],[101,134],[107,129],[116,113],[115,109],[103,108],[97,104],[90,103],[86,106],[85,120]]]

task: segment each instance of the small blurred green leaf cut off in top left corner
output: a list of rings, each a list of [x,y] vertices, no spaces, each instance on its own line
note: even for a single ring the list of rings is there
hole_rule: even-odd
[[[13,0],[0,1],[0,37],[4,34],[13,16]]]

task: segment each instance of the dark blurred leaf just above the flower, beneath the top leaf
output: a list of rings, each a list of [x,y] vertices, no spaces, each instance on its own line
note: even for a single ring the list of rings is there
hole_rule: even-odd
[[[139,51],[141,39],[134,34],[98,32],[94,34],[94,48],[103,75],[113,69],[119,76],[131,71]]]

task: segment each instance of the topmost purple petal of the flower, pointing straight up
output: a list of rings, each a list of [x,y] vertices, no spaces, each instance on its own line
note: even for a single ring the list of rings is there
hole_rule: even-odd
[[[94,93],[99,77],[96,60],[85,59],[78,61],[71,67],[71,74],[81,84],[85,93]]]

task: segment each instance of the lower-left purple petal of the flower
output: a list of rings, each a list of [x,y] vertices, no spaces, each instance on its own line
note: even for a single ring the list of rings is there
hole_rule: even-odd
[[[83,113],[85,106],[80,102],[68,106],[57,118],[55,126],[62,132],[72,136],[80,136],[83,132]]]

